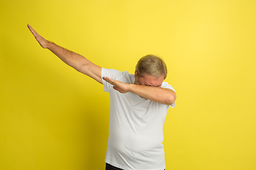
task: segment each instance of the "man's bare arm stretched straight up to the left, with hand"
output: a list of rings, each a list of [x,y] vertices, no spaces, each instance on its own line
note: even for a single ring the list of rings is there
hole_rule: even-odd
[[[54,42],[46,40],[41,35],[36,33],[36,30],[34,30],[31,26],[28,25],[28,28],[29,30],[31,30],[31,33],[34,35],[34,37],[39,42],[41,47],[47,48],[55,55],[57,55],[60,58],[60,60],[68,64],[70,67],[73,67],[74,69],[78,70],[78,72],[81,72],[82,74],[85,74],[91,77],[92,79],[95,79],[100,84],[102,84],[101,67],[90,62],[82,55],[79,55],[75,52],[60,47],[59,45],[56,45]]]

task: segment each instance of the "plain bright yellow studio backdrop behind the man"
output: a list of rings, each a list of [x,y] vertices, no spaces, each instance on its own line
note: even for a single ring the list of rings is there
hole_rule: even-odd
[[[109,69],[162,57],[166,169],[256,169],[256,1],[0,1],[0,169],[105,169],[109,95],[26,27]]]

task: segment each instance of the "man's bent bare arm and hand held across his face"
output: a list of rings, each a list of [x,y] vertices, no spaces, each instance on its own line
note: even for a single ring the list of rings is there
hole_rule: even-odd
[[[157,103],[163,103],[171,105],[176,100],[176,93],[171,89],[164,89],[156,86],[143,86],[137,84],[126,84],[121,81],[110,79],[109,77],[103,77],[105,81],[114,85],[113,88],[122,94],[132,92],[142,98],[146,98],[149,101]]]

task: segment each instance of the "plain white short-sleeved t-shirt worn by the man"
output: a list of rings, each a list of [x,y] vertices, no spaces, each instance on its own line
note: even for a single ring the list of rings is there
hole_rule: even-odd
[[[102,68],[102,77],[134,84],[134,74]],[[163,125],[169,106],[137,94],[120,94],[102,79],[110,93],[110,129],[105,162],[124,170],[163,170]],[[163,82],[161,88],[174,88]],[[174,108],[175,103],[171,105]]]

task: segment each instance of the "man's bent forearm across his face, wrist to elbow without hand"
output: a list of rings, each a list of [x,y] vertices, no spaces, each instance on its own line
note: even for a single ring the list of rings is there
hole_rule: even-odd
[[[173,90],[161,87],[129,84],[129,92],[137,94],[150,101],[164,103],[166,105],[171,105],[176,100],[176,93]]]

